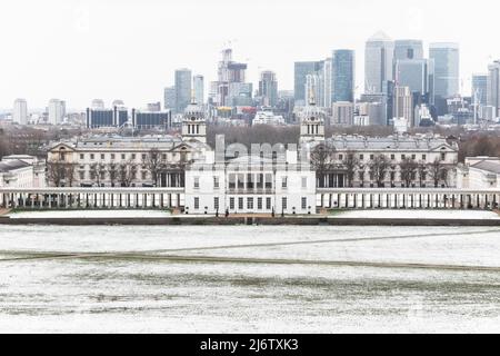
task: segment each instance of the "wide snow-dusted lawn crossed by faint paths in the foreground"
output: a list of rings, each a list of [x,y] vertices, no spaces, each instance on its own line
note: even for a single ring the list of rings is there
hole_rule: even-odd
[[[500,333],[499,256],[483,227],[0,226],[0,332]]]

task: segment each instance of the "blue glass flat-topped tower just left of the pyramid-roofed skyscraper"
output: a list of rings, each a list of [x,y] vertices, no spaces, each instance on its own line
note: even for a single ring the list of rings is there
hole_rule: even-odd
[[[334,50],[332,56],[333,102],[354,101],[354,51],[348,49]]]

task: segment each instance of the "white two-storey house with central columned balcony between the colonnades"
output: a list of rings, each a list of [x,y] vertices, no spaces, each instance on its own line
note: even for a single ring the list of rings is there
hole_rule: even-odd
[[[192,165],[186,172],[187,214],[316,214],[316,174],[286,159],[242,156]]]

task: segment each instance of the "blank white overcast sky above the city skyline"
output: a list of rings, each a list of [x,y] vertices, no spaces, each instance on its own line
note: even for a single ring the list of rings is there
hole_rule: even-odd
[[[93,98],[129,107],[162,101],[173,71],[188,67],[208,82],[227,41],[249,63],[293,88],[293,62],[331,50],[357,51],[362,87],[364,41],[378,30],[461,46],[461,75],[500,58],[500,3],[490,0],[2,0],[0,108],[26,98],[29,108],[64,99],[84,108]],[[207,90],[206,89],[206,90]]]

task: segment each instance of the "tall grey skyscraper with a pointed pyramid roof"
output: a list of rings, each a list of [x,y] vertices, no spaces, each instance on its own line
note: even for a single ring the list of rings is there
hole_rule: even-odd
[[[386,83],[393,80],[394,41],[377,32],[366,44],[364,92],[383,92]]]

